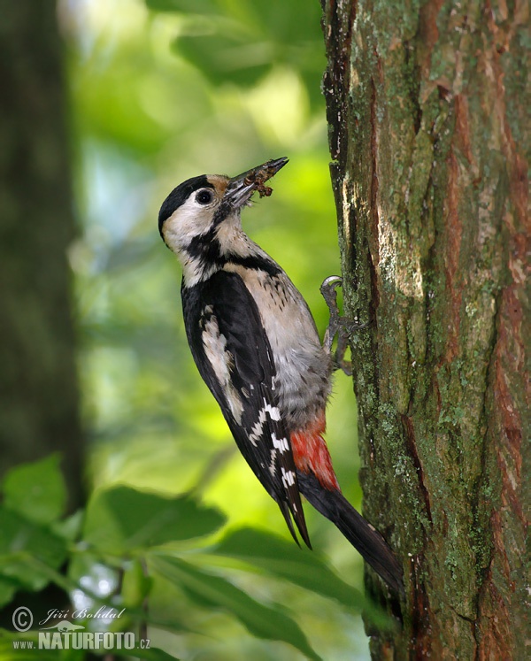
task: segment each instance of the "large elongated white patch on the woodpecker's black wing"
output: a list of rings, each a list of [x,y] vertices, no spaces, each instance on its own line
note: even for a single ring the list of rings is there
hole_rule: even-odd
[[[205,311],[212,311],[212,307],[208,306]],[[212,365],[216,378],[223,388],[230,412],[236,422],[241,424],[243,404],[230,378],[230,367],[234,364],[234,357],[227,351],[227,338],[219,333],[218,319],[214,316],[205,322],[201,339],[204,355]]]

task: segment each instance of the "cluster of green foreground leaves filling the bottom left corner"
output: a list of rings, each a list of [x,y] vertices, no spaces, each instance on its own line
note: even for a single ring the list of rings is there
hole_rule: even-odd
[[[14,488],[20,479],[20,485],[31,491],[28,477],[42,497],[42,507],[33,511],[27,509],[27,489]],[[203,611],[225,611],[257,638],[289,643],[305,657],[319,661],[293,609],[250,596],[248,589],[233,582],[235,573],[254,572],[270,581],[289,581],[314,596],[334,599],[344,609],[359,611],[367,606],[356,590],[309,550],[298,550],[281,537],[252,528],[223,529],[226,517],[220,511],[189,496],[163,496],[125,485],[98,488],[86,511],[65,519],[65,497],[58,500],[58,493],[65,495],[65,482],[57,457],[51,457],[7,473],[0,506],[0,607],[10,603],[20,589],[36,592],[50,582],[70,593],[73,601],[68,615],[44,621],[42,615],[51,604],[44,613],[35,613],[40,630],[66,617],[88,631],[132,631],[138,639],[148,635],[151,639],[157,630],[190,634],[189,605],[186,609],[182,605],[187,602]],[[220,568],[225,575],[219,574]],[[179,605],[161,608],[157,590],[167,596],[169,586],[179,594]],[[58,606],[62,611],[62,604],[52,609]],[[90,614],[100,607],[119,612],[119,618],[91,619]],[[378,617],[376,611],[369,612]],[[36,648],[37,636],[36,629],[22,635],[0,631],[0,658],[9,657],[13,642],[33,642]],[[123,649],[112,651],[115,656],[127,654]],[[56,653],[64,661],[81,660],[84,654],[82,649]],[[34,650],[34,657],[40,654],[41,650]],[[142,657],[173,658],[156,645]]]

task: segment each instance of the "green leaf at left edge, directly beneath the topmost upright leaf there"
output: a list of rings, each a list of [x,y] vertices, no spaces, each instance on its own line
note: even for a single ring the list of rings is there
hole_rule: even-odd
[[[65,542],[17,512],[0,507],[0,530],[0,575],[5,580],[39,590],[50,581],[47,568],[58,569],[65,562]]]

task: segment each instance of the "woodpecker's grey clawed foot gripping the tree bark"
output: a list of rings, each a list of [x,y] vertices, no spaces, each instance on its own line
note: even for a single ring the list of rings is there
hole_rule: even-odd
[[[355,330],[366,328],[369,324],[356,324],[350,319],[342,317],[337,307],[337,292],[335,288],[342,284],[342,278],[339,275],[330,275],[320,286],[320,293],[325,299],[325,303],[330,311],[328,327],[323,338],[323,346],[328,353],[332,354],[332,344],[335,335],[337,335],[337,348],[334,357],[334,369],[341,369],[347,376],[352,375],[352,363],[345,360],[345,353],[349,346],[350,335]]]

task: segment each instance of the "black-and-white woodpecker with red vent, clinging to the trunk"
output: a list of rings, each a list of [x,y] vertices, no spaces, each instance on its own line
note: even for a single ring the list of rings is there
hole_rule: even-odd
[[[389,587],[402,569],[380,533],[342,496],[325,432],[335,368],[303,296],[242,229],[250,198],[288,163],[278,158],[236,177],[200,175],[166,197],[158,228],[182,266],[186,334],[197,369],[243,457],[297,541],[309,548],[301,494],[339,528]],[[335,287],[339,279],[332,278]]]

